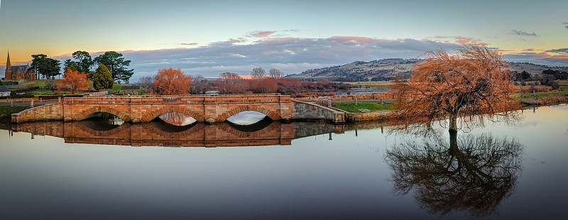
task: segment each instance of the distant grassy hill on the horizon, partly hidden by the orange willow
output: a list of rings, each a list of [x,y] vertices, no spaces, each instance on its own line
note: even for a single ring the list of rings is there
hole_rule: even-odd
[[[346,65],[306,70],[297,75],[288,75],[288,77],[314,80],[330,79],[336,81],[349,81],[346,79],[380,81],[400,75],[409,77],[410,71],[413,69],[415,63],[420,61],[421,60],[418,59],[385,59],[369,62],[356,61]],[[542,70],[548,69],[568,70],[568,67],[547,67],[545,65],[535,65],[528,62],[510,62],[507,68],[517,72],[526,71],[531,75],[540,74]]]

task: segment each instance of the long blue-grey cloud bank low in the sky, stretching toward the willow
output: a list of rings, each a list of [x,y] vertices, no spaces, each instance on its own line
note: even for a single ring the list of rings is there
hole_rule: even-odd
[[[195,48],[162,50],[119,51],[126,60],[132,60],[131,68],[138,77],[154,75],[160,68],[181,68],[189,75],[217,77],[221,72],[250,75],[253,67],[268,70],[277,68],[285,74],[343,65],[356,60],[386,58],[417,58],[429,50],[454,50],[457,43],[435,40],[397,39],[386,40],[358,36],[333,36],[330,38],[247,38],[209,43]],[[67,57],[60,57],[65,60]]]

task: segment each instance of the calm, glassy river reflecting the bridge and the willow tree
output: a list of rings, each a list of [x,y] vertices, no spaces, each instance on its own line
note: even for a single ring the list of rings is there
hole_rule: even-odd
[[[568,105],[484,125],[4,125],[0,219],[567,219]]]

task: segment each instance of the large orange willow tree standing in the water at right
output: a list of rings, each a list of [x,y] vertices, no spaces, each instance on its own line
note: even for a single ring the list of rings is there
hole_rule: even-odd
[[[514,87],[505,65],[498,51],[484,45],[426,53],[408,81],[393,85],[400,118],[429,124],[449,116],[449,131],[457,132],[460,116],[508,114],[516,102],[510,98]]]

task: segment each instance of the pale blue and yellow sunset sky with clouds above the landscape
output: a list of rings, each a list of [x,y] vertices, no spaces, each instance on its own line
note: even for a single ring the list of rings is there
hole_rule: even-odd
[[[39,53],[117,51],[132,60],[133,81],[169,67],[289,75],[463,43],[484,43],[508,61],[568,66],[566,9],[565,0],[0,0],[0,75],[8,50],[12,65]]]

